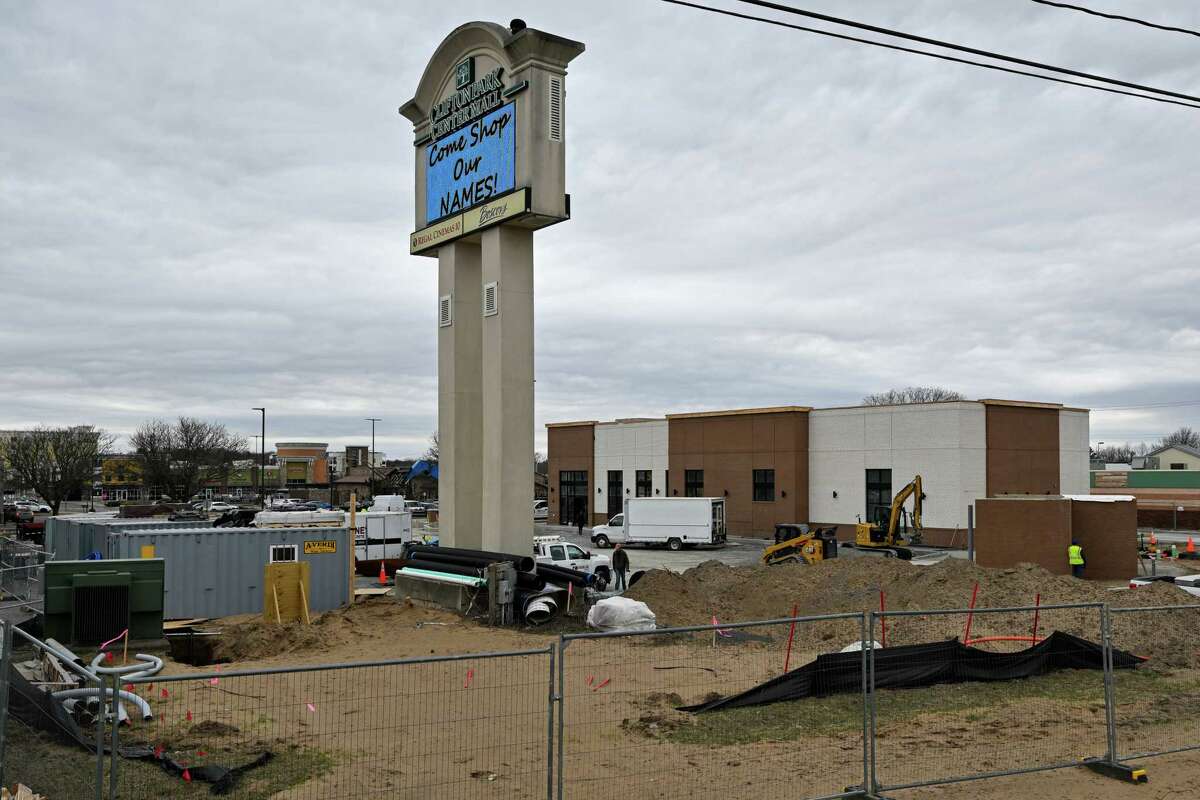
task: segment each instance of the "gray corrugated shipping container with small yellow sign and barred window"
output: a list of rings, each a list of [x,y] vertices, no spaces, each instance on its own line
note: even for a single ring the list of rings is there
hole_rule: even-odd
[[[163,559],[164,618],[190,619],[260,614],[263,567],[278,546],[294,546],[296,559],[308,563],[311,612],[346,606],[349,542],[346,528],[143,529],[110,534],[108,552],[114,559]],[[154,547],[152,555],[143,551],[146,546]]]

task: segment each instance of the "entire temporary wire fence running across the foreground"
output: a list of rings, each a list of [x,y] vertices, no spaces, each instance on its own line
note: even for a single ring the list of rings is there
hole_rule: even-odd
[[[1164,620],[1175,633],[1135,663]],[[118,729],[89,692],[38,702],[53,681],[23,674],[56,645],[0,630],[0,783],[52,798],[812,800],[1200,748],[1200,604],[836,614],[104,678],[148,706],[127,697]]]

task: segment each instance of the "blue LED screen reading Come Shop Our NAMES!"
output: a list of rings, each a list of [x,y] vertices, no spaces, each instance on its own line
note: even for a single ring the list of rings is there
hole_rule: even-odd
[[[433,222],[516,188],[516,104],[426,145],[425,219]]]

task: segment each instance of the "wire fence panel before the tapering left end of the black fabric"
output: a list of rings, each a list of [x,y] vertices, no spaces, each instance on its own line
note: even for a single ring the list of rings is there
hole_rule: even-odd
[[[682,709],[785,680],[785,668],[797,676],[864,627],[863,614],[842,614],[563,637],[558,796],[791,800],[862,786],[862,652],[844,692]]]

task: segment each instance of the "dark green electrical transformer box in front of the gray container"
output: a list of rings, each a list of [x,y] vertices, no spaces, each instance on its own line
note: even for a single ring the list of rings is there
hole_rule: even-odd
[[[46,636],[71,645],[162,638],[162,559],[47,561]]]

